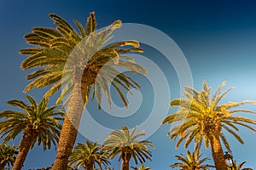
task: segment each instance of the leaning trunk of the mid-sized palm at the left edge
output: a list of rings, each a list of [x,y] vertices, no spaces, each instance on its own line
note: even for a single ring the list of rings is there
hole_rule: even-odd
[[[32,132],[30,127],[26,127],[24,135],[20,142],[20,151],[15,159],[13,170],[20,170],[23,167],[28,151],[30,150],[36,138],[37,134]]]

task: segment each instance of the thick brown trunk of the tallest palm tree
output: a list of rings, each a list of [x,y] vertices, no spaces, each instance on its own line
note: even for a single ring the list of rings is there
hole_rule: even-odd
[[[72,153],[73,145],[77,138],[79,123],[86,103],[86,95],[81,89],[81,83],[75,83],[68,103],[67,112],[61,128],[57,156],[55,158],[53,170],[66,170],[68,157]],[[81,97],[81,92],[83,92]],[[86,100],[85,100],[86,99]]]

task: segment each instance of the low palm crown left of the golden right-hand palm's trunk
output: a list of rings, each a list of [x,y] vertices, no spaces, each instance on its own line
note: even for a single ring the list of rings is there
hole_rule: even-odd
[[[175,156],[177,157],[177,160],[182,162],[174,163],[170,167],[181,167],[182,170],[207,170],[209,167],[214,167],[212,165],[201,165],[204,161],[210,160],[208,157],[200,160],[201,156],[202,154],[200,154],[199,150],[195,150],[192,154],[188,150],[187,156],[184,156],[183,154],[180,154],[180,156]]]

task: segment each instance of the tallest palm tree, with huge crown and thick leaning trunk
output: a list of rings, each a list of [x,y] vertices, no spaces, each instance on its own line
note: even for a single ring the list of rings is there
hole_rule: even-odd
[[[62,170],[67,169],[68,156],[73,150],[80,117],[90,92],[96,96],[99,108],[102,93],[106,95],[110,105],[108,84],[111,84],[127,107],[128,103],[121,88],[129,91],[131,87],[140,88],[140,86],[116,67],[142,74],[146,71],[137,65],[134,59],[125,55],[130,52],[143,52],[139,48],[139,42],[115,42],[104,47],[104,44],[111,39],[112,32],[121,26],[120,20],[96,32],[96,18],[92,12],[87,18],[85,27],[79,21],[74,21],[78,32],[60,16],[56,14],[49,16],[55,21],[56,28],[33,28],[32,33],[25,36],[26,42],[35,47],[20,50],[20,54],[28,55],[28,58],[22,62],[21,68],[27,70],[39,67],[38,71],[27,76],[28,80],[34,80],[28,84],[25,91],[51,86],[45,94],[45,97],[48,97],[62,88],[56,102],[66,99],[67,116],[61,129],[53,166],[54,170]]]

